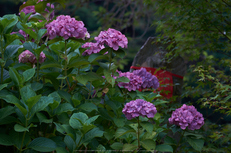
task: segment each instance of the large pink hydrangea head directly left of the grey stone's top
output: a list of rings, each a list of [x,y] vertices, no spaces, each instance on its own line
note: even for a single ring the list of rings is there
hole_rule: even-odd
[[[95,40],[99,45],[108,45],[114,50],[118,50],[119,46],[122,48],[127,48],[128,39],[120,31],[109,28],[107,31],[101,31]]]

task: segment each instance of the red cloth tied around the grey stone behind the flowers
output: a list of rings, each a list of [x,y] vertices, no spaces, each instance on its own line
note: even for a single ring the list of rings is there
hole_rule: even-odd
[[[137,67],[137,66],[131,66],[131,69],[139,70],[142,67]],[[157,91],[160,91],[160,95],[166,98],[171,98],[173,96],[173,79],[172,76],[178,77],[183,79],[183,76],[173,74],[169,71],[166,70],[161,70],[161,69],[156,69],[152,67],[143,67],[145,68],[148,72],[152,73],[155,75],[160,83],[159,88]]]

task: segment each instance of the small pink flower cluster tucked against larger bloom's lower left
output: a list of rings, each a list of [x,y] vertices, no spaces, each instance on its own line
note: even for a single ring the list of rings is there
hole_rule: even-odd
[[[82,55],[85,56],[85,55],[91,55],[93,53],[98,53],[102,49],[104,49],[105,47],[104,46],[99,46],[98,43],[87,42],[82,46],[82,48],[89,48],[89,49],[87,49],[87,50],[85,50],[83,52]]]

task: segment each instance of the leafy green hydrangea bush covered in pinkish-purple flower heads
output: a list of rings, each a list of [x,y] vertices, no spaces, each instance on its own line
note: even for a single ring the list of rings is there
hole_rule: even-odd
[[[1,151],[201,151],[204,120],[193,106],[175,110],[145,69],[118,71],[126,36],[109,28],[89,42],[82,21],[47,20],[52,2],[64,6],[28,0],[20,16],[0,18]],[[169,131],[187,135],[175,141]]]

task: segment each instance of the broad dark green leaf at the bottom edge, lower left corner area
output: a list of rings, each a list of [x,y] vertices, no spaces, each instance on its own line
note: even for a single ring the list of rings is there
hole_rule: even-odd
[[[56,143],[48,138],[39,137],[35,138],[29,143],[28,148],[34,149],[40,152],[51,152],[56,149]]]

